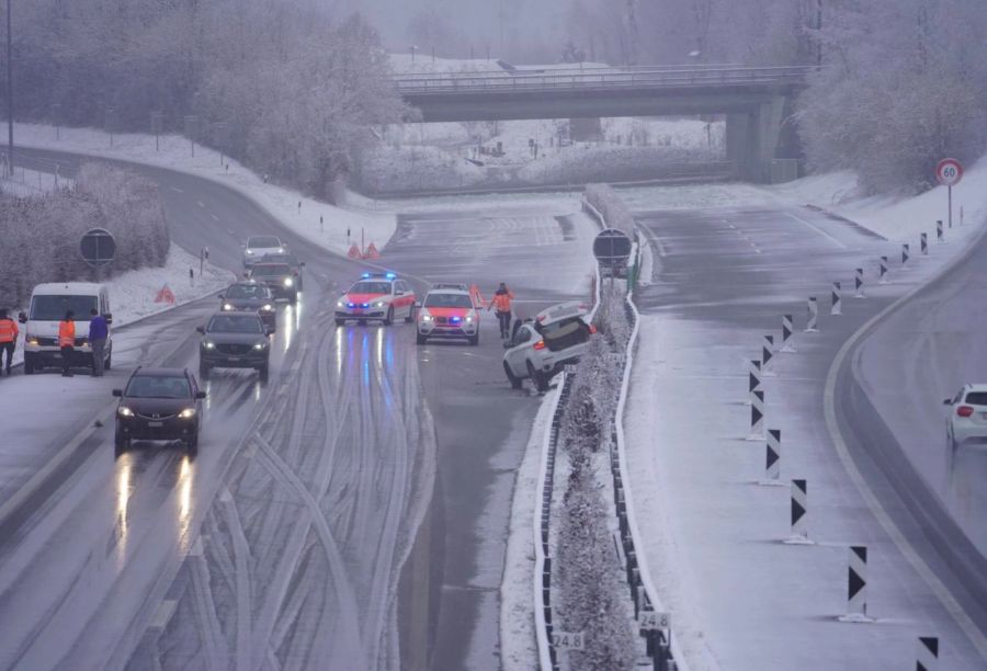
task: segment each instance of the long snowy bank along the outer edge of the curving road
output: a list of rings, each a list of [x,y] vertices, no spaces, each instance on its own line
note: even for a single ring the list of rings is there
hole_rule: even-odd
[[[41,124],[15,124],[15,145],[82,153],[106,159],[131,161],[168,168],[218,182],[238,191],[265,209],[299,236],[331,252],[344,255],[352,239],[361,235],[366,243],[383,249],[396,228],[389,211],[377,211],[375,204],[355,194],[349,198],[353,209],[337,207],[305,196],[299,192],[269,183],[237,161],[208,147],[195,145],[178,135],[110,135],[93,128],[60,128]],[[0,146],[5,146],[5,139]],[[321,219],[321,224],[320,224]]]

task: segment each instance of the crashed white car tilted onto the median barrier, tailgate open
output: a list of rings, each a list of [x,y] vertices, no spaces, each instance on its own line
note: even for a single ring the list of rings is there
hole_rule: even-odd
[[[586,322],[588,310],[579,303],[563,303],[531,321],[515,323],[514,334],[504,344],[503,372],[514,389],[529,378],[538,391],[563,366],[579,360],[597,329]]]

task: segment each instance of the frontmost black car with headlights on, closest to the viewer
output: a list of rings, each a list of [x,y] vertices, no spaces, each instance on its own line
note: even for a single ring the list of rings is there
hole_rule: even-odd
[[[132,440],[182,441],[190,452],[198,447],[202,399],[195,376],[185,368],[134,371],[123,389],[114,389],[114,445],[120,454]]]

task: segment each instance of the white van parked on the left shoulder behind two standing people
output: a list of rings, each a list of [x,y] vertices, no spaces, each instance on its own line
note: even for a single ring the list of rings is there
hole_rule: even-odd
[[[68,282],[38,284],[31,294],[31,307],[19,315],[24,329],[24,374],[31,375],[46,366],[61,366],[58,348],[58,322],[68,310],[76,314],[76,364],[92,365],[89,346],[89,311],[95,308],[113,322],[110,311],[110,292],[102,284]],[[112,331],[106,337],[103,367],[109,369],[113,356]]]

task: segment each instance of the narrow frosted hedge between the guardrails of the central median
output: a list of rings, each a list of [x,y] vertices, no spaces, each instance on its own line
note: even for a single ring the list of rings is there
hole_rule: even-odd
[[[626,317],[619,288],[604,293],[594,338],[576,366],[574,387],[559,428],[559,446],[568,464],[554,583],[560,592],[557,625],[583,632],[586,649],[570,652],[574,669],[631,669],[637,653],[632,612],[621,566],[613,551],[613,503],[608,485],[609,448],[620,389],[615,355],[626,346]],[[623,320],[623,326],[621,321]]]

